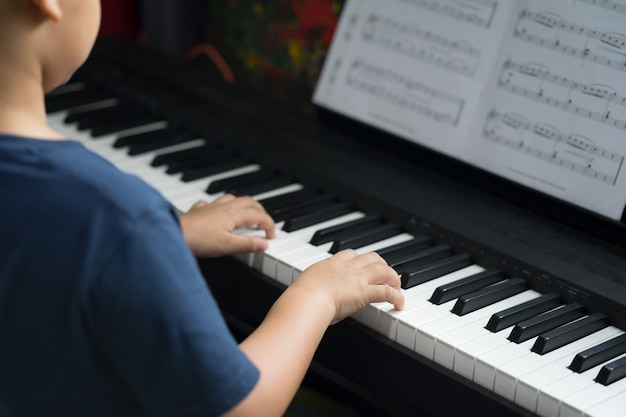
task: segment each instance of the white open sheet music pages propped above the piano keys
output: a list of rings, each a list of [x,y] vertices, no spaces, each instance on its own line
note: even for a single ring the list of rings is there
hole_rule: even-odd
[[[316,104],[619,219],[626,1],[351,0]]]

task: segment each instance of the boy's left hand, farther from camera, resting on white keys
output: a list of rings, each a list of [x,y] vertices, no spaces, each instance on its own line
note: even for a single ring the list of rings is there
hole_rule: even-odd
[[[217,257],[267,249],[274,237],[274,220],[251,197],[226,194],[212,203],[199,201],[180,216],[183,235],[194,255]],[[255,227],[266,238],[234,234],[239,227]]]

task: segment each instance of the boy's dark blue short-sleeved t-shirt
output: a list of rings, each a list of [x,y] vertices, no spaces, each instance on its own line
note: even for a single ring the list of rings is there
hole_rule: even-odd
[[[1,416],[215,416],[258,377],[156,191],[0,135]]]

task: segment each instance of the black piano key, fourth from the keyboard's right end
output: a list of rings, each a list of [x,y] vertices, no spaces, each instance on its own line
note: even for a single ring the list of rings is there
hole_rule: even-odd
[[[521,343],[572,320],[579,319],[584,314],[582,305],[578,303],[568,304],[517,323],[508,339],[511,342]]]

